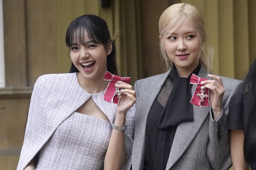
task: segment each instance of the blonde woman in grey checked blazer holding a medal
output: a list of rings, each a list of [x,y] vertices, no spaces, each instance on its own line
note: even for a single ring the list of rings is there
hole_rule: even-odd
[[[212,75],[213,50],[194,6],[168,7],[159,34],[168,71],[134,85],[132,169],[229,169],[227,114],[240,81]]]

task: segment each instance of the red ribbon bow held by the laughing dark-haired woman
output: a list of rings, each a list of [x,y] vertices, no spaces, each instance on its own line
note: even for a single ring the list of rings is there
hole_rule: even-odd
[[[110,72],[106,72],[104,75],[104,80],[109,81],[109,85],[106,88],[105,94],[103,96],[103,100],[105,100],[109,103],[118,104],[118,95],[115,94],[115,92],[117,90],[115,83],[117,81],[124,81],[125,83],[129,84],[131,78],[129,78],[129,77],[122,78],[118,75],[113,75]]]

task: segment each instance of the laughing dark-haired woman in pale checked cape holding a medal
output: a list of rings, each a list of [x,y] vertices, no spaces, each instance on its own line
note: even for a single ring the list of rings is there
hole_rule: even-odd
[[[116,81],[120,102],[105,101],[105,73],[118,74],[106,22],[77,17],[66,44],[70,73],[35,83],[17,170],[129,170],[136,97],[131,85]]]

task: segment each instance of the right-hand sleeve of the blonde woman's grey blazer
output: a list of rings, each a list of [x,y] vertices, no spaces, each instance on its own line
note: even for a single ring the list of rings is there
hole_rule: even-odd
[[[209,143],[207,146],[207,156],[211,165],[211,170],[228,170],[232,166],[230,155],[230,134],[228,130],[227,115],[229,102],[232,95],[237,91],[241,81],[228,79],[222,104],[221,115],[213,120],[212,111],[209,118]]]

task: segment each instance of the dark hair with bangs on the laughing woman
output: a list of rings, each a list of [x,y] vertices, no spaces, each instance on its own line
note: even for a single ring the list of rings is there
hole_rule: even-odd
[[[106,47],[107,43],[112,41],[106,21],[96,15],[86,14],[77,17],[68,27],[66,33],[66,45],[69,49],[77,42],[85,44],[85,31],[88,34],[88,38],[94,43],[102,43]],[[118,75],[116,49],[113,41],[112,52],[107,57],[107,71]],[[79,70],[73,63],[71,63],[69,72],[79,72]]]

